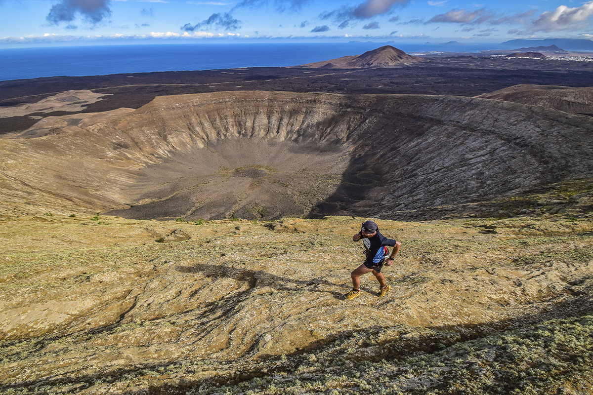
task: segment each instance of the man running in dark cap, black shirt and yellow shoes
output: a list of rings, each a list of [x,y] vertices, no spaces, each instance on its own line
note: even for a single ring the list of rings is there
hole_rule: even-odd
[[[365,221],[362,224],[361,231],[352,237],[355,242],[361,239],[366,250],[366,260],[364,264],[358,266],[350,274],[353,289],[346,294],[346,298],[353,299],[361,294],[359,288],[361,285],[360,277],[368,272],[372,272],[379,281],[379,297],[382,298],[391,289],[391,285],[387,285],[387,282],[385,282],[385,276],[381,273],[381,268],[384,264],[385,266],[393,265],[393,258],[400,252],[401,243],[381,235],[379,227],[373,221]],[[393,247],[393,252],[385,259],[385,256],[389,254],[387,246]]]

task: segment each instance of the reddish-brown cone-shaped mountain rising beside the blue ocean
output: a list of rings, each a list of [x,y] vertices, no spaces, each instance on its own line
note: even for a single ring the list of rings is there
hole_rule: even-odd
[[[400,65],[421,61],[421,57],[411,56],[400,49],[386,45],[384,47],[370,50],[361,55],[343,56],[339,57],[338,59],[307,63],[306,65],[294,67],[312,69],[370,69],[397,67]]]

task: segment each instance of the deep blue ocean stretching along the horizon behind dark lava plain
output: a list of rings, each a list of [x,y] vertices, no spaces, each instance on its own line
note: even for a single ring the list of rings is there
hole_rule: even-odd
[[[433,50],[431,46],[422,44],[389,44],[408,53]],[[136,44],[0,49],[0,81],[53,76],[297,66],[358,55],[384,45],[387,43]],[[449,47],[448,50],[454,49]]]

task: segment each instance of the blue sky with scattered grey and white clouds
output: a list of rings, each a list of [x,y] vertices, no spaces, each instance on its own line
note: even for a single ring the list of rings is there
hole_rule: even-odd
[[[593,39],[593,1],[0,0],[0,46]]]

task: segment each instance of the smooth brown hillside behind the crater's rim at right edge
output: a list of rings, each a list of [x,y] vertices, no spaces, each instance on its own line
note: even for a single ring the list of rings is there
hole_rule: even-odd
[[[566,113],[593,114],[593,87],[515,85],[477,97],[538,105]]]

